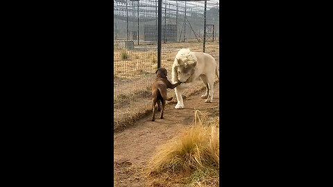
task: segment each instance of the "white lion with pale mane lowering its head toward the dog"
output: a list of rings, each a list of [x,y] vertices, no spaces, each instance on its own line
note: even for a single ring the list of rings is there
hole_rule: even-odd
[[[189,48],[178,51],[172,65],[172,81],[184,82],[175,88],[177,105],[176,109],[184,108],[182,92],[200,78],[206,86],[206,93],[201,98],[207,98],[205,103],[212,103],[214,94],[214,78],[219,75],[219,64],[214,57],[207,53],[192,52]]]

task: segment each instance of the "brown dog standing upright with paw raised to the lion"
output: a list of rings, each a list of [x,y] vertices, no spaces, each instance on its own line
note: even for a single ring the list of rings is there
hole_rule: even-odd
[[[156,78],[153,82],[153,85],[151,85],[151,93],[153,95],[153,117],[151,118],[151,121],[155,121],[155,105],[157,103],[158,111],[161,110],[161,103],[162,103],[162,112],[161,112],[161,119],[163,118],[163,112],[165,107],[165,101],[166,100],[172,100],[171,98],[168,98],[167,96],[167,89],[174,89],[176,88],[180,83],[177,82],[176,84],[171,84],[171,82],[167,79],[167,69],[165,68],[159,68],[157,69]],[[161,103],[160,103],[161,102]]]

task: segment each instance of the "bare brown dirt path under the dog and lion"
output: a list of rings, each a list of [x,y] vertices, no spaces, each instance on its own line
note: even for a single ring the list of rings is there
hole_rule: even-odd
[[[114,133],[114,186],[148,186],[142,176],[146,161],[154,154],[158,145],[172,139],[183,127],[194,121],[195,109],[219,115],[219,83],[214,86],[213,103],[205,103],[205,90],[184,100],[185,109],[175,109],[176,104],[165,108],[164,119],[160,112],[137,121],[126,130]]]

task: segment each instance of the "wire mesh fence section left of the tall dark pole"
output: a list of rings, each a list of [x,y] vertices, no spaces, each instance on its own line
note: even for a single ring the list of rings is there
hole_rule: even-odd
[[[157,69],[157,38],[147,39],[145,26],[157,33],[157,1],[114,0],[114,121],[135,116],[151,105],[151,83]]]

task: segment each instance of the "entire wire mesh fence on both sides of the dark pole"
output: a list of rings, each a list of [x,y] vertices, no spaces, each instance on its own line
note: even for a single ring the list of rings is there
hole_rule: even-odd
[[[157,5],[157,0],[114,0],[115,121],[151,107],[151,84],[157,69]],[[204,6],[204,1],[162,1],[161,66],[167,69],[169,80],[180,48],[203,51]],[[219,1],[207,1],[206,24],[210,36],[206,52],[216,57]]]

